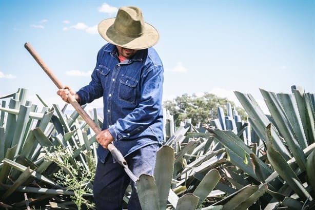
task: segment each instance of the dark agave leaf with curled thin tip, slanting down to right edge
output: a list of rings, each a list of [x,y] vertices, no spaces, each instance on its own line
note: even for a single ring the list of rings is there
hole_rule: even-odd
[[[272,167],[288,183],[288,185],[291,186],[294,192],[296,192],[301,199],[306,200],[306,198],[311,198],[296,173],[294,173],[279,151],[275,149],[273,139],[271,137],[271,126],[272,124],[270,123],[266,128],[268,135],[268,141],[266,141],[268,160],[270,161]]]

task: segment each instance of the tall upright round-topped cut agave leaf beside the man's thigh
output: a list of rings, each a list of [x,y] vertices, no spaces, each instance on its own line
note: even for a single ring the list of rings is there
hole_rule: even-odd
[[[174,169],[174,150],[169,146],[161,147],[156,153],[154,169],[155,183],[159,192],[160,209],[166,209],[167,198]]]

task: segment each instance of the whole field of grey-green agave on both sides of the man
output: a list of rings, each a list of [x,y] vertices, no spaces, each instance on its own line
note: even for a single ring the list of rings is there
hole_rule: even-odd
[[[227,104],[207,125],[188,119],[175,129],[164,110],[154,177],[136,182],[142,208],[315,209],[314,94],[291,91],[261,90],[268,115],[235,92],[246,122]],[[38,110],[26,89],[1,98],[0,208],[93,209],[94,132],[76,111]],[[102,126],[96,109],[90,116]]]

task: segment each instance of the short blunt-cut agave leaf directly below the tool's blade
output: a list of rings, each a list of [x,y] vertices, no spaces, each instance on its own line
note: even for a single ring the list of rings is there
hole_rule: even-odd
[[[142,174],[139,177],[139,180],[136,181],[136,187],[142,209],[160,209],[159,193],[152,176]]]

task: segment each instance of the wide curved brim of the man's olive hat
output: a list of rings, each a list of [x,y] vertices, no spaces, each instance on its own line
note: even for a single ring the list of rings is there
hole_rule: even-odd
[[[159,41],[159,32],[148,23],[144,24],[144,32],[139,37],[128,37],[117,32],[114,27],[115,18],[101,21],[97,27],[100,35],[107,42],[128,49],[141,50],[152,47]]]

